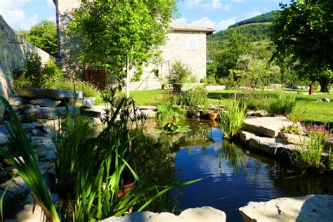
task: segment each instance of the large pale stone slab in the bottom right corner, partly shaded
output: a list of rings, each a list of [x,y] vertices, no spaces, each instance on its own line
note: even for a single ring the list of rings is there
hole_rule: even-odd
[[[283,197],[268,202],[249,202],[241,207],[244,221],[333,221],[333,195]]]

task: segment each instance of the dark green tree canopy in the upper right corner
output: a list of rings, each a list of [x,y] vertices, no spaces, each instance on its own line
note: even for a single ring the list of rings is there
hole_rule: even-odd
[[[299,74],[320,83],[329,91],[333,69],[333,4],[331,0],[297,0],[273,22],[273,58],[297,65]]]

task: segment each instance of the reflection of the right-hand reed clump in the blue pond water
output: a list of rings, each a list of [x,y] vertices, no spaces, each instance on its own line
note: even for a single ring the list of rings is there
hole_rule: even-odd
[[[218,168],[221,173],[223,172],[222,162],[228,162],[229,166],[233,168],[234,173],[237,173],[241,169],[245,174],[244,155],[235,143],[224,140],[221,148],[218,150],[217,156],[219,157]]]

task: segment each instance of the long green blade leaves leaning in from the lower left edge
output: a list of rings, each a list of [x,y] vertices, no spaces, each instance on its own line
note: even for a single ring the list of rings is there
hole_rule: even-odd
[[[8,101],[1,96],[1,102],[4,104],[8,113],[9,124],[5,124],[5,126],[11,136],[11,152],[0,149],[0,155],[8,159],[8,162],[10,162],[15,169],[18,169],[18,176],[27,183],[32,191],[32,197],[34,197],[34,200],[41,206],[48,221],[60,221],[52,202],[48,186],[41,175],[37,157],[34,154],[29,138],[27,138],[27,134],[18,116],[15,114]]]

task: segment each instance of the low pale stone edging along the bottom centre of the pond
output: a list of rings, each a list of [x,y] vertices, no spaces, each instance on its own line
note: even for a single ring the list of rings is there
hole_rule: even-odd
[[[181,212],[179,216],[171,213],[152,213],[150,211],[134,212],[125,216],[111,216],[103,222],[157,222],[157,221],[177,221],[177,222],[199,222],[199,221],[226,221],[226,214],[213,207],[190,208]]]

